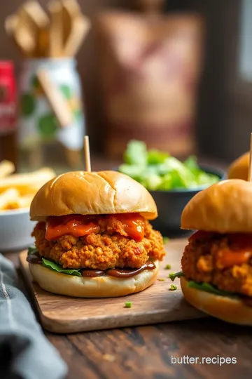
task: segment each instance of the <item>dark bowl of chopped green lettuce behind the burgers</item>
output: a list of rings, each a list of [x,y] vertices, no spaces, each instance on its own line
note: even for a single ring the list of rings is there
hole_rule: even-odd
[[[183,208],[197,192],[225,179],[225,172],[200,166],[194,156],[179,161],[167,152],[147,149],[142,141],[132,140],[118,168],[151,192],[158,206],[158,218],[152,222],[163,235],[179,232]]]

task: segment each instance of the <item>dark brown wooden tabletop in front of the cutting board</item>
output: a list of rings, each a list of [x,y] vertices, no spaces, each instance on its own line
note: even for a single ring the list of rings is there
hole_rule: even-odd
[[[18,253],[6,257],[18,265]],[[212,318],[45,335],[68,364],[67,379],[251,378],[251,328]],[[183,364],[172,363],[172,357]],[[198,362],[202,357],[229,357],[237,363],[186,363],[190,357],[199,357]]]

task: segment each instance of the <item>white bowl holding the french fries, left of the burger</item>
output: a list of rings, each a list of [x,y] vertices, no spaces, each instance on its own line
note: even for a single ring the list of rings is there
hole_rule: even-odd
[[[21,250],[34,244],[31,232],[36,222],[29,218],[29,208],[0,213],[0,252]]]

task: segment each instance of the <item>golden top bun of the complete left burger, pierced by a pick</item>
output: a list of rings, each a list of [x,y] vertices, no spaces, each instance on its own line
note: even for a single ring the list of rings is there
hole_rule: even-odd
[[[157,206],[147,189],[116,171],[64,173],[45,183],[31,202],[31,220],[49,215],[141,213],[154,220]]]

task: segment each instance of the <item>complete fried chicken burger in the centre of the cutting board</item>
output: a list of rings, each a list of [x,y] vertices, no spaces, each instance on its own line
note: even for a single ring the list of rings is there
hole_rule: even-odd
[[[158,212],[139,182],[115,171],[76,171],[46,183],[31,203],[36,248],[27,256],[41,288],[106,298],[143,291],[165,255],[148,220]]]

